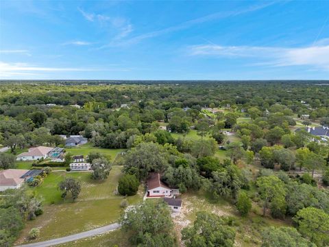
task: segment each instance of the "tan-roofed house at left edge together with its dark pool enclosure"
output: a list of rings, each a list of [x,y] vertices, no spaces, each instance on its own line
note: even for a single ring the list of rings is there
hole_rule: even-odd
[[[0,191],[6,189],[19,189],[25,180],[33,179],[39,175],[41,169],[5,169],[0,171]]]

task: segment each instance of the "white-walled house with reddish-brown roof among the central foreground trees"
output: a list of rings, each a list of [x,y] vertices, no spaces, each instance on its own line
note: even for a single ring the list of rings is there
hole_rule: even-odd
[[[179,194],[178,189],[171,189],[160,180],[160,174],[151,173],[147,179],[147,197],[172,197]]]

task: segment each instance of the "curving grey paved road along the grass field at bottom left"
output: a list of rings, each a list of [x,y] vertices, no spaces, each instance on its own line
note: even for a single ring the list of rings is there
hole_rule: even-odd
[[[120,225],[118,223],[114,223],[114,224],[110,224],[110,225],[107,225],[107,226],[95,228],[95,229],[90,230],[90,231],[85,231],[85,232],[82,232],[82,233],[69,235],[69,236],[66,236],[66,237],[60,237],[60,238],[57,238],[57,239],[51,239],[51,240],[47,240],[47,241],[44,241],[44,242],[37,242],[37,243],[32,243],[32,244],[23,244],[21,246],[16,246],[16,247],[55,246],[56,244],[64,244],[66,242],[75,241],[77,239],[84,239],[86,237],[93,237],[95,235],[99,235],[99,234],[102,234],[102,233],[106,233],[108,231],[115,230],[119,227],[120,227]]]

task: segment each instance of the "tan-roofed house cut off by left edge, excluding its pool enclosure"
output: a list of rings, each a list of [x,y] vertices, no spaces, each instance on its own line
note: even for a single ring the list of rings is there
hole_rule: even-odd
[[[27,169],[5,169],[0,171],[0,191],[6,189],[19,189],[23,185],[24,174],[29,172]]]

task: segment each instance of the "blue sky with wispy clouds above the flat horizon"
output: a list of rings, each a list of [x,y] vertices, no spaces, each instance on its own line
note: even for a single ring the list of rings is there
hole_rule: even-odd
[[[329,1],[0,1],[0,79],[329,79]]]

